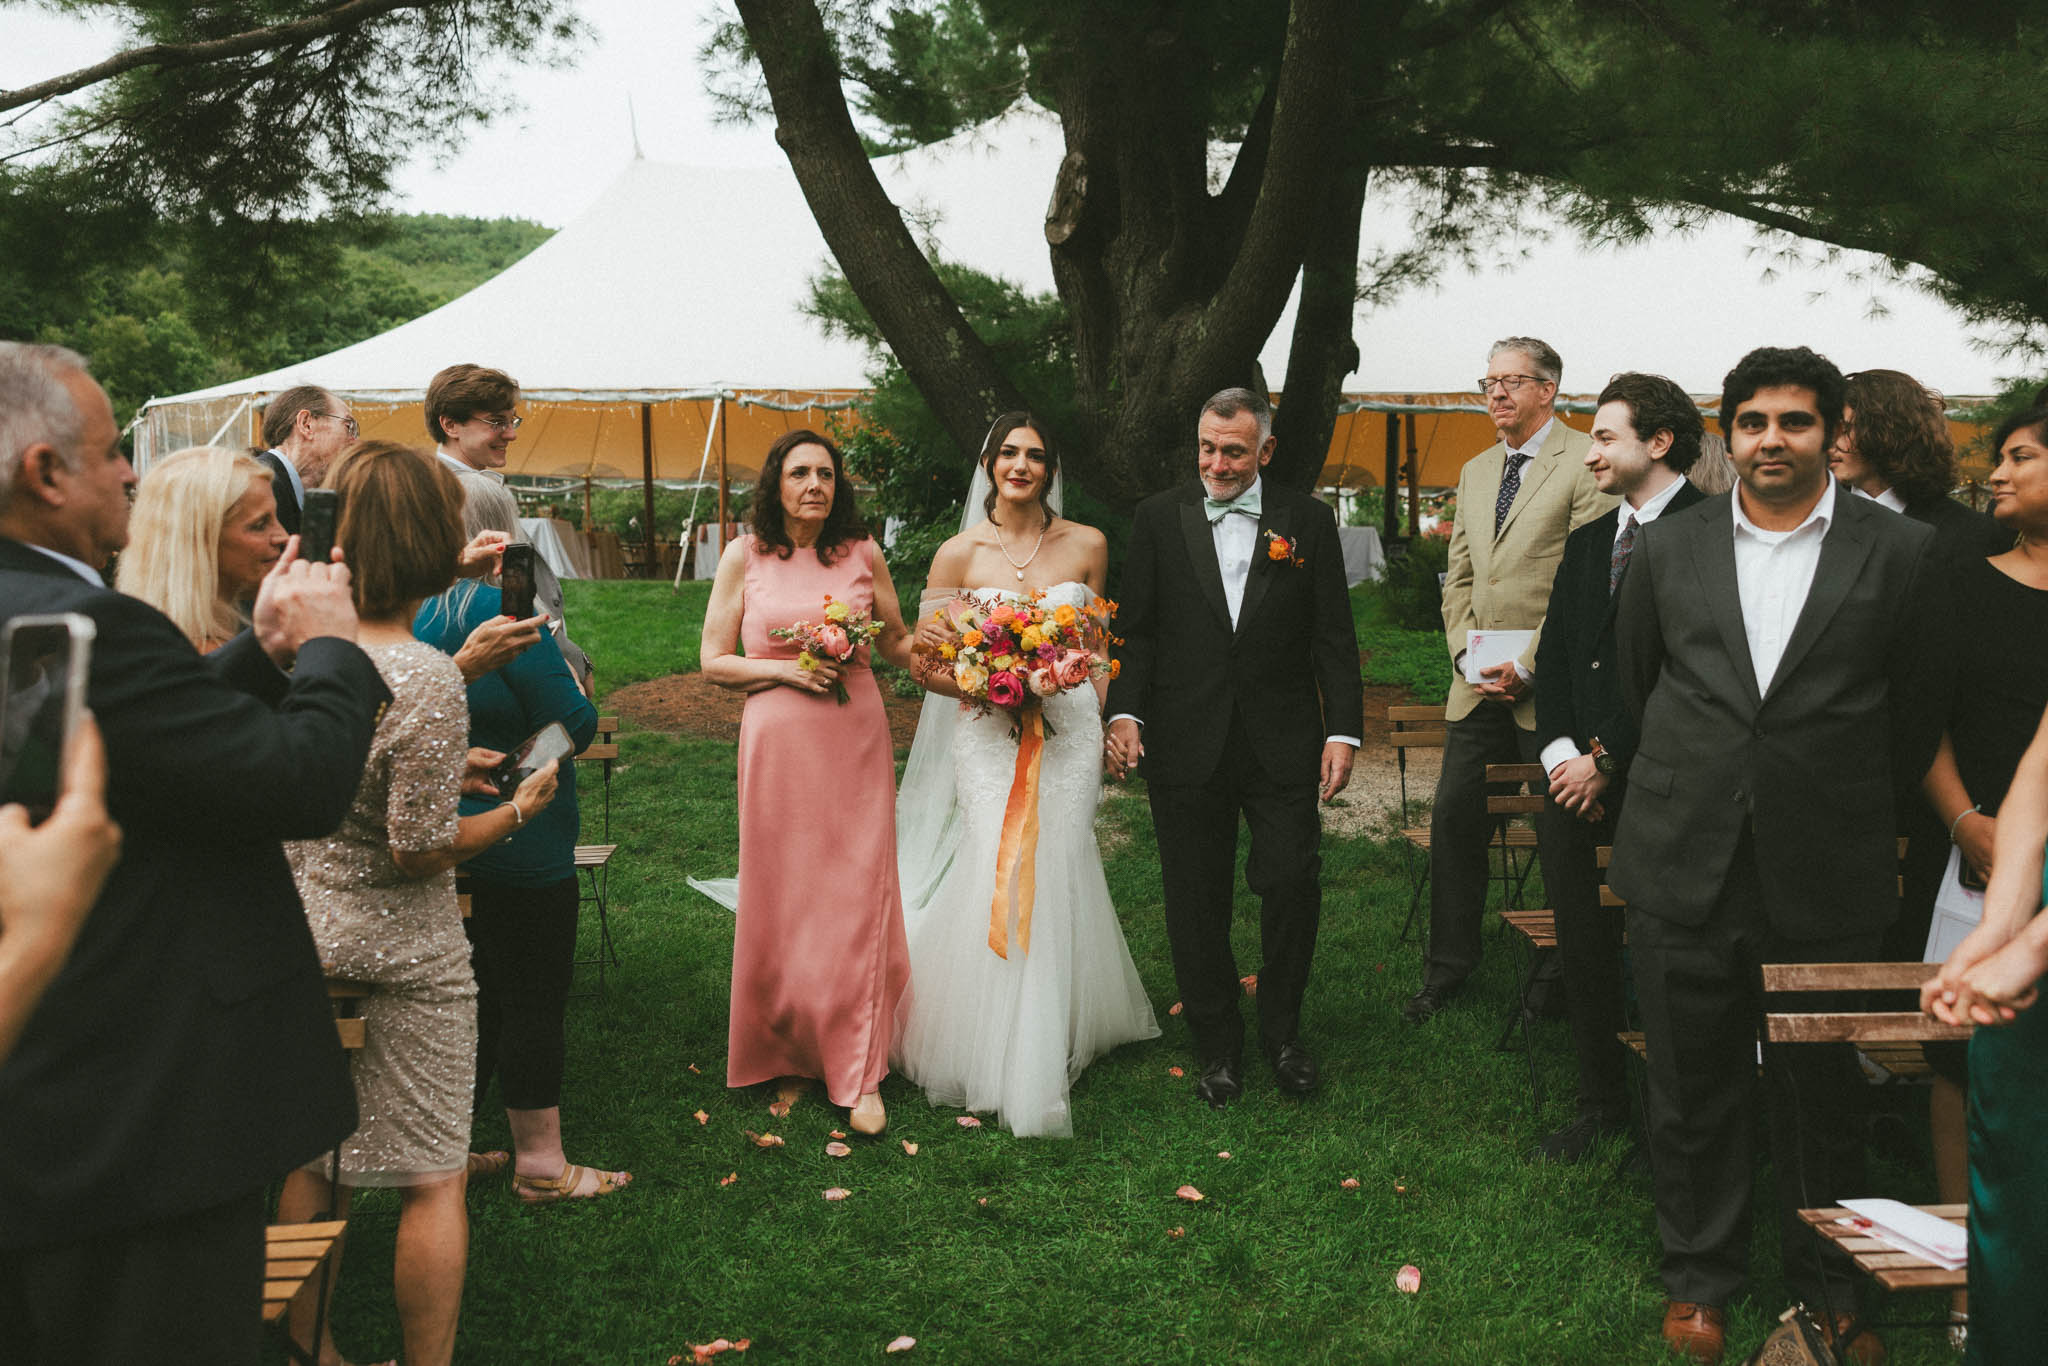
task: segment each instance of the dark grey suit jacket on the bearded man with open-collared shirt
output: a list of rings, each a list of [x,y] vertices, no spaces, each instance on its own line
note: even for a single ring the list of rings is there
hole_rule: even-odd
[[[1946,715],[1942,578],[1925,526],[1837,487],[1812,588],[1759,694],[1733,496],[1642,528],[1616,616],[1640,739],[1608,881],[1630,909],[1702,924],[1747,825],[1778,934],[1868,934],[1898,913],[1896,801],[1927,772]]]

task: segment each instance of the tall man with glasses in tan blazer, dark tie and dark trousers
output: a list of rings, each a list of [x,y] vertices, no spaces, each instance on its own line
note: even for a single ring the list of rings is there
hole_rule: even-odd
[[[1454,680],[1444,709],[1444,770],[1430,815],[1430,956],[1403,1008],[1421,1024],[1479,967],[1487,901],[1487,764],[1538,762],[1536,637],[1513,661],[1464,682],[1468,631],[1542,631],[1565,537],[1616,504],[1585,467],[1589,440],[1556,418],[1565,362],[1532,336],[1493,344],[1479,383],[1501,440],[1458,473],[1458,516],[1444,575],[1444,639]],[[1538,852],[1556,846],[1556,811],[1536,817]]]

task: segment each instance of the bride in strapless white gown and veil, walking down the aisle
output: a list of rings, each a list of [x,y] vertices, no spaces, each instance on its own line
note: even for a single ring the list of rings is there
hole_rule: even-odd
[[[1047,604],[1085,608],[1106,580],[1102,532],[1059,516],[1057,455],[1030,414],[1006,414],[983,446],[961,535],[932,559],[922,629],[934,633],[934,606],[961,594],[989,602],[1042,590]],[[1100,694],[1075,688],[1044,702],[1030,942],[1012,915],[999,956],[991,901],[1018,741],[1006,713],[963,709],[950,678],[926,686],[897,797],[911,975],[893,1061],[932,1104],[995,1112],[1018,1137],[1065,1139],[1073,1077],[1116,1044],[1159,1036],[1096,848]]]

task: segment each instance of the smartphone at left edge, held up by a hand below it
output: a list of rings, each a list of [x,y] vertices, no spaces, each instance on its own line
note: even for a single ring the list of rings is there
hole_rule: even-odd
[[[0,627],[0,803],[41,821],[57,805],[63,752],[86,711],[92,618],[16,616]]]

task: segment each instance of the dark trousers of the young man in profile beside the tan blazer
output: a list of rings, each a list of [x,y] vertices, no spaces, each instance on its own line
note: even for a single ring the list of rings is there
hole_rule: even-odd
[[[1565,965],[1565,1018],[1579,1067],[1579,1114],[1620,1128],[1628,1122],[1628,1059],[1616,1034],[1622,1008],[1622,913],[1599,903],[1599,846],[1614,844],[1622,788],[1602,797],[1606,813],[1581,821],[1559,813],[1554,860],[1544,860],[1542,885],[1556,913],[1556,956]]]

